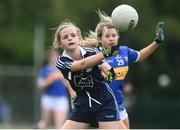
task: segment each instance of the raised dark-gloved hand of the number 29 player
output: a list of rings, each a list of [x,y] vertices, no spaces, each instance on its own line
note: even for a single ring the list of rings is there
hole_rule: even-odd
[[[164,41],[164,22],[161,21],[156,26],[156,37],[154,39],[158,44]]]

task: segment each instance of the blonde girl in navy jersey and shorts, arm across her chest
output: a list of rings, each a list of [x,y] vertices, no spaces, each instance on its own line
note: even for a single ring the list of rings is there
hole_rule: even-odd
[[[112,49],[81,47],[80,29],[70,21],[63,21],[56,30],[53,46],[62,48],[56,66],[69,80],[76,92],[74,109],[63,129],[86,129],[92,120],[98,121],[99,128],[119,127],[119,114],[114,93],[101,75],[101,70],[110,69],[102,61],[110,56]]]

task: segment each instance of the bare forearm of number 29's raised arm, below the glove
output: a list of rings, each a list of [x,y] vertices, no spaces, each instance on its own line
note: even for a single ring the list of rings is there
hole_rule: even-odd
[[[150,45],[140,50],[140,58],[138,61],[146,60],[158,47],[159,44],[153,41]]]

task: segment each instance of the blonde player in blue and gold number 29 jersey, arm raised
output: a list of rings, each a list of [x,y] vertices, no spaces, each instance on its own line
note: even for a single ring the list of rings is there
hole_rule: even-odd
[[[111,48],[118,45],[119,30],[116,29],[111,18],[104,12],[99,11],[100,22],[97,24],[95,32],[85,38],[83,46]],[[115,93],[120,119],[124,122],[126,128],[129,128],[129,119],[124,105],[123,85],[124,79],[128,72],[128,65],[132,62],[141,62],[148,58],[159,47],[164,40],[163,33],[164,22],[159,22],[156,28],[156,37],[152,43],[140,51],[129,48],[128,46],[117,46],[119,48],[118,55],[107,57],[106,60],[116,73],[116,79],[109,83],[111,89]]]

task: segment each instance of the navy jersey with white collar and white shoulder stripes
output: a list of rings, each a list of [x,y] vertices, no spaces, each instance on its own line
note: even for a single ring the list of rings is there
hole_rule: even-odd
[[[94,48],[80,47],[81,55],[86,58],[95,55],[98,52]],[[72,88],[78,95],[88,92],[96,92],[102,87],[105,87],[104,77],[101,75],[99,63],[91,68],[71,72],[71,64],[73,59],[64,51],[57,59],[56,66],[63,73],[64,77],[69,80]]]

